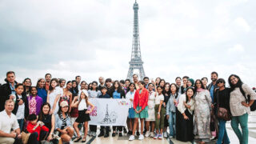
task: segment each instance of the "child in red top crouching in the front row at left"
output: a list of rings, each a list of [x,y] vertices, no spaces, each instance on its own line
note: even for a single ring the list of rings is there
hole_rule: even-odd
[[[30,133],[30,138],[27,144],[38,144],[41,130],[48,132],[49,129],[46,126],[43,126],[43,122],[38,121],[38,118],[35,114],[30,114],[28,120],[30,122],[26,126],[26,130]]]

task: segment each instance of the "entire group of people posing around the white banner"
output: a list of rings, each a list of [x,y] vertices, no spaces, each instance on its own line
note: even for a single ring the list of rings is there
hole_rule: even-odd
[[[230,143],[226,121],[242,144],[248,143],[248,114],[254,104],[254,90],[242,82],[236,74],[226,81],[212,72],[208,79],[184,76],[175,82],[163,78],[154,81],[148,77],[138,81],[98,78],[86,83],[52,78],[46,74],[32,86],[30,78],[22,83],[15,81],[14,71],[6,73],[6,84],[0,86],[0,143],[38,143],[58,140],[62,142],[86,142],[86,135],[97,135],[97,126],[90,125],[90,113],[94,110],[91,98],[126,98],[130,102],[126,126],[113,126],[112,137],[124,133],[129,140],[151,137],[176,138],[182,142]],[[140,125],[140,130],[139,130]],[[169,126],[169,134],[167,128]],[[242,131],[238,128],[241,126]],[[80,134],[84,130],[84,136]],[[29,134],[29,135],[26,135]],[[24,138],[27,136],[27,138]],[[100,126],[98,137],[110,136],[110,126]]]

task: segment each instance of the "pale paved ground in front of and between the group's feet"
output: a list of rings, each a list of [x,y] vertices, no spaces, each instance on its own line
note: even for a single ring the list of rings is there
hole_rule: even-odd
[[[250,115],[249,118],[249,144],[254,144],[256,143],[256,115]],[[232,130],[231,126],[230,126],[230,122],[226,123],[226,127],[227,127],[227,133],[229,135],[230,138],[230,143],[231,144],[239,144],[238,142],[238,138],[236,137],[236,135],[234,134],[234,131]],[[99,133],[99,130],[98,130]],[[130,142],[128,141],[128,136],[124,135],[123,137],[114,137],[112,138],[110,136],[110,138],[92,138],[87,136],[87,142],[86,143],[91,143],[91,144],[142,144],[142,143],[146,143],[146,144],[189,144],[191,142],[179,142],[177,140],[175,140],[174,138],[165,138],[162,140],[154,140],[153,138],[145,138],[143,141],[139,141],[138,138],[135,137],[135,140]],[[77,142],[77,143],[81,143],[81,142]],[[195,142],[194,142],[195,143]],[[214,144],[215,141],[210,142],[210,144]]]

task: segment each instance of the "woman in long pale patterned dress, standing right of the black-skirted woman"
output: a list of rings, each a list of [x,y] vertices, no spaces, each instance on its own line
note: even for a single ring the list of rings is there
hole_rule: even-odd
[[[211,97],[210,92],[203,86],[202,81],[195,81],[194,97],[194,134],[199,139],[198,143],[210,142],[210,109]]]

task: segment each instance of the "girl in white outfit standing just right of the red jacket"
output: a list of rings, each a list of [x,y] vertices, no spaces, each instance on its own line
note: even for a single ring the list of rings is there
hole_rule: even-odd
[[[155,92],[154,92],[154,84],[149,83],[148,85],[149,89],[149,101],[147,102],[148,110],[147,113],[149,114],[149,117],[146,118],[146,134],[145,137],[154,137],[154,121],[155,121],[155,114],[154,114],[154,101],[155,101]],[[150,125],[151,124],[151,125]],[[151,131],[151,133],[150,133]]]

